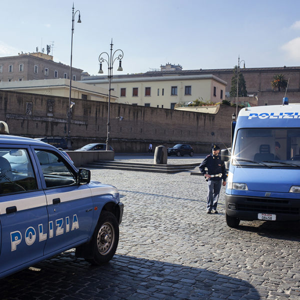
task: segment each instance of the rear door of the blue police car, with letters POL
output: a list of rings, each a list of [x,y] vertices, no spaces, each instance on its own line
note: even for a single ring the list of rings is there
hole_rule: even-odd
[[[29,146],[0,148],[0,274],[43,255],[46,197]],[[10,271],[11,272],[11,271]]]

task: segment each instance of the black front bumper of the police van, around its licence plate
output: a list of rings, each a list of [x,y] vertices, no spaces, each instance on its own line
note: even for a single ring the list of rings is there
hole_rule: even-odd
[[[225,210],[240,220],[258,220],[258,213],[269,213],[277,221],[294,221],[300,220],[300,199],[225,194]]]

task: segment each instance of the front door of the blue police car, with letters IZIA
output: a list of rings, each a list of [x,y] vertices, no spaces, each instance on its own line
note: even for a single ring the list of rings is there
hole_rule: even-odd
[[[49,232],[44,254],[49,254],[87,240],[91,191],[87,184],[76,183],[76,170],[60,152],[43,148],[34,148],[34,152],[46,195]]]

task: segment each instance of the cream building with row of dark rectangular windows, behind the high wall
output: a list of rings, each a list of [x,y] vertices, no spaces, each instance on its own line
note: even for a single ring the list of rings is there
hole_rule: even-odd
[[[108,88],[107,76],[83,76],[80,82]],[[221,102],[226,84],[211,74],[148,76],[142,73],[115,75],[111,88],[119,103],[173,109],[176,103],[187,105],[196,99]]]

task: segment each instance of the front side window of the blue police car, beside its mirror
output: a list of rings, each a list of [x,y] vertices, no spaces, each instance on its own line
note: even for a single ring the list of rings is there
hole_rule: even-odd
[[[35,150],[35,153],[40,163],[46,187],[76,183],[76,175],[57,153],[46,150]]]

